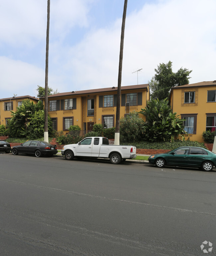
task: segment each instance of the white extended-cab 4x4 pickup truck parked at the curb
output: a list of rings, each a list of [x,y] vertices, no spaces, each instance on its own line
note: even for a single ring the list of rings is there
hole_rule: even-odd
[[[136,158],[136,147],[109,145],[104,137],[87,137],[77,144],[65,145],[61,155],[66,160],[74,157],[109,158],[112,164],[119,164],[126,159]]]

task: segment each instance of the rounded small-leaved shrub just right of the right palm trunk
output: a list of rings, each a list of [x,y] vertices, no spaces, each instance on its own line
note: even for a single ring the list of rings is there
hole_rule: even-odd
[[[122,143],[140,141],[143,138],[144,121],[137,112],[131,112],[120,119],[120,141]]]

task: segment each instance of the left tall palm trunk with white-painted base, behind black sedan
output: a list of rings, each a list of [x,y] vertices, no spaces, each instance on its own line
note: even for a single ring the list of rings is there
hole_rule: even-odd
[[[44,141],[48,142],[48,59],[49,59],[49,31],[50,31],[50,0],[47,1],[47,44],[45,67],[45,103],[44,103]]]

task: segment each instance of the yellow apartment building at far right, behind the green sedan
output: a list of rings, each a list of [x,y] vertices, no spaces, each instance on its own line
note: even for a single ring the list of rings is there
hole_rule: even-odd
[[[216,80],[172,87],[169,100],[173,112],[186,119],[186,139],[204,142],[203,131],[215,131]]]

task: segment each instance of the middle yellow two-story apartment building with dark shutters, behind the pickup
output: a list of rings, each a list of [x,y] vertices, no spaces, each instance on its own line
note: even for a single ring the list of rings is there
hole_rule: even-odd
[[[140,111],[148,100],[149,84],[122,86],[120,117]],[[78,125],[88,132],[96,123],[106,128],[114,127],[116,104],[117,87],[70,91],[48,96],[48,113],[56,131],[67,133],[71,125]]]

